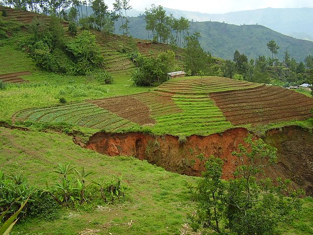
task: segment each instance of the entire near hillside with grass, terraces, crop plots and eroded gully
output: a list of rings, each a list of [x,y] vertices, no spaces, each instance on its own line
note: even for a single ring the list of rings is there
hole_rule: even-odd
[[[50,18],[8,13],[0,16],[6,32],[0,39],[0,192],[25,176],[31,190],[21,185],[17,191],[34,199],[12,234],[199,234],[188,219],[198,204],[188,186],[212,155],[224,162],[223,179],[233,178],[239,159],[232,151],[249,134],[278,149],[278,163],[266,168],[269,177],[291,179],[292,189],[313,195],[311,97],[224,77],[135,87],[128,53],[154,56],[171,47],[97,31],[91,33],[113,84],[44,72],[21,43],[31,36],[32,18]],[[63,27],[71,40],[66,22]],[[181,68],[183,50],[174,50]],[[2,200],[10,208],[28,196],[12,192]],[[281,233],[311,233],[312,199],[299,200],[303,213],[279,224]]]

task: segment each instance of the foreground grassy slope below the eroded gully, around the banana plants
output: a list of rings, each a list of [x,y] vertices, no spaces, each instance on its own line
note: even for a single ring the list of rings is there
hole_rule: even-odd
[[[90,179],[111,173],[125,178],[128,201],[103,210],[63,210],[53,221],[29,219],[16,226],[13,234],[77,234],[88,229],[96,234],[180,234],[194,203],[184,184],[195,182],[132,157],[109,157],[74,145],[65,135],[23,132],[0,128],[0,170],[22,173],[29,183],[53,186],[59,179],[53,172],[58,163],[72,162],[94,172]],[[47,148],[48,147],[48,148]],[[90,181],[88,181],[90,182]],[[311,234],[313,201],[306,199],[304,214],[296,222],[282,227],[283,234]],[[133,224],[129,228],[128,223]],[[103,226],[106,223],[120,224]]]

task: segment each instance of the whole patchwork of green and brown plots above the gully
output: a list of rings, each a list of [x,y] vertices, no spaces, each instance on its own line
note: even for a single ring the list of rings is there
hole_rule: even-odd
[[[180,78],[150,92],[22,110],[17,121],[155,134],[210,135],[246,124],[306,120],[313,99],[284,88],[220,77]],[[138,130],[138,129],[137,129]]]

